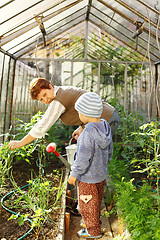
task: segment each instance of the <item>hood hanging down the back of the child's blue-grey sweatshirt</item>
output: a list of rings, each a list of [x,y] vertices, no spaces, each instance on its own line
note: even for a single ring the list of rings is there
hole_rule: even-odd
[[[108,147],[112,142],[111,128],[105,119],[101,119],[101,122],[88,123],[89,128],[92,128],[92,137],[95,142],[102,149]]]

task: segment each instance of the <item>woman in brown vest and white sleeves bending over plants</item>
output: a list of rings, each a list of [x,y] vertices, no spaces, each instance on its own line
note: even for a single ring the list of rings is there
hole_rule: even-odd
[[[21,148],[33,142],[37,138],[45,136],[50,127],[60,118],[66,125],[79,125],[73,132],[73,137],[77,140],[83,131],[84,125],[79,119],[78,112],[74,105],[77,99],[86,90],[73,86],[53,86],[44,78],[35,78],[30,83],[30,94],[32,100],[41,101],[49,105],[42,119],[35,124],[31,131],[19,141],[10,141],[9,148]],[[112,135],[118,128],[120,118],[115,108],[103,101],[102,118],[108,121],[111,126]]]

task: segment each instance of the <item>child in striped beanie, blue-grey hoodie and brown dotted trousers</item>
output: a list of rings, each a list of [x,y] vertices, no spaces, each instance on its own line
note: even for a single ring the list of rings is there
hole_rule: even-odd
[[[75,109],[85,125],[77,141],[76,159],[68,179],[72,185],[78,180],[79,209],[86,225],[77,234],[80,238],[100,238],[100,206],[113,153],[111,129],[105,119],[100,119],[103,105],[96,93],[81,95]]]

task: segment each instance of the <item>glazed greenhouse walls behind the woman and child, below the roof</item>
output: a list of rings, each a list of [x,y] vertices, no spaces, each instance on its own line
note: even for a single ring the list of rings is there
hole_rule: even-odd
[[[15,126],[17,119],[29,122],[38,110],[46,109],[30,98],[29,83],[34,77],[45,77],[55,85],[71,85],[97,92],[106,101],[115,98],[124,106],[126,115],[140,112],[146,119],[157,116],[159,98],[156,96],[159,92],[156,86],[159,86],[159,81],[155,83],[155,66],[149,63],[15,60],[0,53],[0,66],[1,134],[6,134],[11,126]],[[1,136],[1,142],[4,140]]]

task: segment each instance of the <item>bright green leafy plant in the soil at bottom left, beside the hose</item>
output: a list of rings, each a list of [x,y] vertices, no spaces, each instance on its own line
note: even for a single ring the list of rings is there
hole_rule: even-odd
[[[34,228],[36,236],[39,235],[45,221],[52,222],[50,214],[61,207],[59,201],[66,187],[63,182],[63,173],[54,171],[54,181],[50,181],[44,176],[39,176],[35,180],[28,181],[28,191],[20,189],[12,178],[12,183],[16,188],[15,194],[11,196],[7,207],[11,209],[29,209],[31,214],[17,214],[9,218],[18,218],[19,225],[22,225],[28,218],[32,219],[30,226]]]

